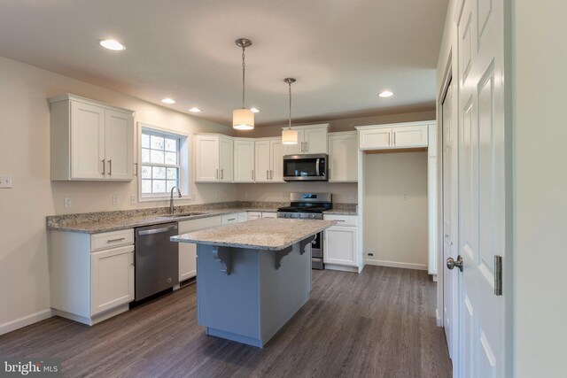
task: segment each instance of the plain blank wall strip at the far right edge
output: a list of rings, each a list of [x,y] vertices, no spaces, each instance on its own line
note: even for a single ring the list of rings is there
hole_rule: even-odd
[[[518,377],[564,377],[567,3],[516,0],[512,4],[515,368]]]

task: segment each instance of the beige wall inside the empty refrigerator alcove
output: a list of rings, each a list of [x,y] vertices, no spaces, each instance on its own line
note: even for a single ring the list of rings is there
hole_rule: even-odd
[[[367,262],[427,269],[427,163],[427,152],[364,155]]]

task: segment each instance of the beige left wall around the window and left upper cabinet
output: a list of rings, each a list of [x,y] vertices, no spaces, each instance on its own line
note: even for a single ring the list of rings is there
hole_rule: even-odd
[[[167,110],[86,82],[0,57],[0,174],[12,174],[13,188],[0,189],[0,334],[22,324],[26,317],[41,317],[50,307],[45,217],[65,212],[129,209],[129,195],[137,195],[132,182],[51,182],[50,113],[47,97],[63,93],[93,98],[136,111],[143,121],[185,132],[231,130],[205,120]],[[112,196],[120,197],[113,206]],[[194,204],[236,200],[232,184],[193,187]],[[63,198],[73,206],[63,208]],[[166,201],[137,204],[166,205]],[[25,321],[25,320],[22,320]],[[14,323],[15,322],[15,323]]]

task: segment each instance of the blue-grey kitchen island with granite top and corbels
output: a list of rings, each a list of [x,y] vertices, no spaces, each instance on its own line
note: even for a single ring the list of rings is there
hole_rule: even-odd
[[[332,220],[260,219],[172,236],[197,243],[198,324],[263,347],[311,292],[311,242]]]

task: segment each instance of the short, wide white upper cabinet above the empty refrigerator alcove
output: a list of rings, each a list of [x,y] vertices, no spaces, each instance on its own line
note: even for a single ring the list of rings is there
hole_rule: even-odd
[[[410,122],[393,125],[361,126],[361,150],[394,150],[428,146],[428,125],[434,121]]]

